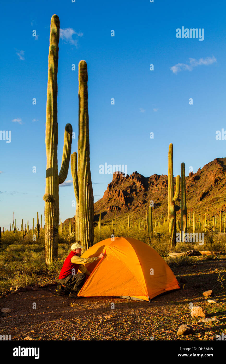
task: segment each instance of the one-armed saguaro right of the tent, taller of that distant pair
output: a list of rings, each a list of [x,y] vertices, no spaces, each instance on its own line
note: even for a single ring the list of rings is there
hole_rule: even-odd
[[[176,245],[176,210],[175,201],[177,201],[180,194],[180,176],[176,178],[176,190],[173,194],[173,145],[169,145],[168,154],[168,229],[169,229],[169,245],[173,248]]]

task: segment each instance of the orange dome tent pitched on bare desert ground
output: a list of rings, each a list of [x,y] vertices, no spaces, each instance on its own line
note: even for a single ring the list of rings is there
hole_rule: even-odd
[[[78,296],[132,297],[145,301],[180,288],[164,259],[150,246],[133,238],[117,237],[91,246],[83,258],[104,256],[86,264],[91,273]]]

